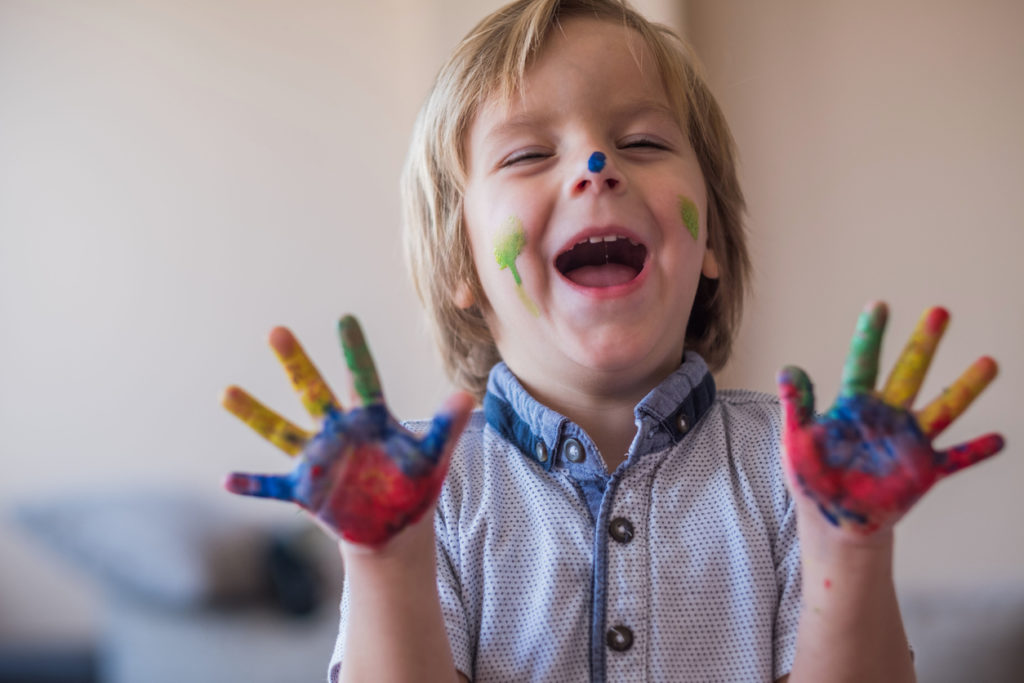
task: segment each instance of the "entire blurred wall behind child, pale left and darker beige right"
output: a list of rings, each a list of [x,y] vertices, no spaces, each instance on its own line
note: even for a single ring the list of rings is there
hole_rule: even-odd
[[[278,323],[340,385],[333,322],[357,312],[395,413],[431,412],[397,177],[433,73],[499,4],[0,0],[3,505],[283,469],[217,404],[239,382],[302,419]],[[741,150],[758,279],[722,383],[771,390],[796,361],[828,396],[864,300],[893,305],[890,360],[949,306],[926,393],[996,355],[949,438],[1010,447],[911,513],[898,577],[1020,580],[1024,13],[896,4],[644,6],[686,17]],[[2,522],[0,557],[0,641],[91,632],[88,585]]]

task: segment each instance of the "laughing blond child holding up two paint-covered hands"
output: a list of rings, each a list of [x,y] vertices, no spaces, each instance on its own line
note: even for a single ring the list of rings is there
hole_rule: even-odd
[[[716,391],[749,270],[743,201],[676,38],[614,0],[499,10],[438,76],[404,194],[419,293],[482,411],[458,394],[413,438],[351,318],[348,413],[271,334],[317,435],[225,397],[303,454],[291,476],[228,487],[294,500],[343,538],[331,681],[913,680],[892,525],[998,450],[930,446],[994,364],[919,425],[944,311],[876,393],[872,305],[828,420],[795,369],[782,419],[769,396]]]

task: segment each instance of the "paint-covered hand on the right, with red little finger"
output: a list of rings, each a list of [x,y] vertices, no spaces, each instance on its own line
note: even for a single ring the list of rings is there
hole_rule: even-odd
[[[1002,447],[998,434],[946,451],[932,447],[995,377],[990,357],[976,360],[923,410],[910,411],[949,318],[943,308],[925,311],[885,387],[874,389],[887,317],[881,302],[861,313],[840,395],[823,416],[814,415],[813,389],[802,370],[787,367],[778,375],[791,487],[833,524],[861,535],[891,528],[936,481]]]

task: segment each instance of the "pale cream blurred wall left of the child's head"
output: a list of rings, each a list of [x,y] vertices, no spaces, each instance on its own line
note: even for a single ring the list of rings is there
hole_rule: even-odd
[[[432,412],[398,176],[436,70],[501,4],[0,1],[0,508],[284,471],[218,404],[240,383],[303,421],[276,324],[341,387],[357,313],[394,412]],[[0,557],[0,644],[90,636],[90,585],[2,518]]]

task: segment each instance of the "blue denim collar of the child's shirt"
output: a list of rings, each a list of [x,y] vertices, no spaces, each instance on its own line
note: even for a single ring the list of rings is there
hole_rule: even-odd
[[[715,380],[707,364],[697,353],[686,351],[683,364],[633,409],[638,432],[630,459],[681,441],[714,400]],[[490,370],[483,413],[492,428],[545,470],[555,465],[596,468],[597,449],[584,431],[530,396],[504,362]],[[563,454],[572,439],[586,452],[586,460],[575,465]]]

